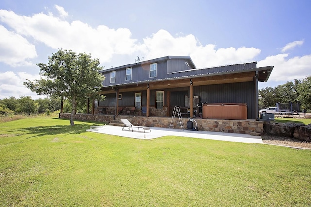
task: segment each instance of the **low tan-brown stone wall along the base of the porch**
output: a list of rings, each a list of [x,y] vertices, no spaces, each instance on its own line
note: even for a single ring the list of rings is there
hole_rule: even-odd
[[[69,113],[60,113],[60,118],[70,118]],[[146,117],[146,116],[116,116],[116,119],[126,118],[133,125],[148,127],[170,127],[171,117]],[[114,115],[75,114],[75,120],[89,120],[110,123],[114,121]],[[182,119],[184,129],[187,129],[188,118]],[[200,131],[228,132],[239,134],[262,135],[263,122],[256,120],[218,120],[218,119],[195,119]],[[172,128],[181,128],[179,119],[173,119]],[[195,124],[194,124],[195,125]]]

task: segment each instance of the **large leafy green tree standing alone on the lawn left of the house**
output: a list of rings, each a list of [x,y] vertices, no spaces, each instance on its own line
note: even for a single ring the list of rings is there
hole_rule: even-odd
[[[24,85],[40,95],[67,98],[72,104],[70,124],[74,125],[74,114],[78,101],[104,99],[100,88],[104,76],[98,73],[103,68],[98,59],[86,53],[76,54],[72,50],[60,49],[49,57],[48,64],[38,63],[40,80],[27,80]]]

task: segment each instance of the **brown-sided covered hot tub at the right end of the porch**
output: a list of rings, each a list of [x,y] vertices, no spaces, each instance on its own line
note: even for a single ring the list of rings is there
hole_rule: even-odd
[[[204,119],[247,119],[246,103],[212,103],[203,104]]]

